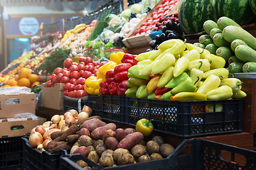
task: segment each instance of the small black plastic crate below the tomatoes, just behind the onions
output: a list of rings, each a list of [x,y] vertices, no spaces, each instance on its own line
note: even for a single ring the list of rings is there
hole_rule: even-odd
[[[69,98],[63,98],[64,111],[69,111],[71,109],[75,109],[76,111],[82,111],[82,107],[85,105],[87,105],[87,100],[81,100],[79,103],[78,101],[74,101]]]

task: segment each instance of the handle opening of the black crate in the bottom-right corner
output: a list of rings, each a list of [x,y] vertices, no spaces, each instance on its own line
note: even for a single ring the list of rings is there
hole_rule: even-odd
[[[220,151],[220,159],[222,159],[225,162],[230,162],[232,164],[239,164],[242,166],[244,166],[247,162],[244,155],[230,152],[227,150]]]

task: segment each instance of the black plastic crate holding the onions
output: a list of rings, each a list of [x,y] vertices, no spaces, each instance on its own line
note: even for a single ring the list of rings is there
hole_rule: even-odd
[[[55,170],[60,169],[60,154],[50,154],[32,148],[28,144],[28,137],[23,140],[23,169],[29,170]]]

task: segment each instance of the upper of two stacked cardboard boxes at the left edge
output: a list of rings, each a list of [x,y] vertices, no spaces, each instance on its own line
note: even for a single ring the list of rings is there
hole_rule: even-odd
[[[13,100],[17,103],[9,104]],[[0,118],[14,118],[18,113],[36,113],[36,94],[0,94]]]

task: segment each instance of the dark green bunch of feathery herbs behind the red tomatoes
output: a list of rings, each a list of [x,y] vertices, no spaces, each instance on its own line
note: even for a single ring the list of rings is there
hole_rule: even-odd
[[[46,70],[46,73],[52,73],[55,68],[63,67],[63,62],[68,58],[71,49],[62,50],[60,48],[56,48],[55,51],[51,52],[49,57],[46,58],[46,61],[43,62],[39,69],[43,71]]]

